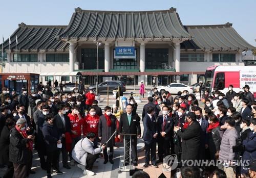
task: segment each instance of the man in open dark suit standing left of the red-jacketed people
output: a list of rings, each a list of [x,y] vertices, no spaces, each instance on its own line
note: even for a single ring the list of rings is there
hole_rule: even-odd
[[[54,116],[55,119],[55,124],[57,126],[57,129],[59,131],[59,133],[61,134],[61,143],[62,143],[62,147],[61,147],[61,153],[62,153],[62,163],[63,163],[63,167],[65,167],[66,169],[71,169],[69,164],[68,164],[68,151],[66,150],[66,132],[71,133],[71,125],[70,125],[70,119],[68,118],[68,116],[66,115],[66,106],[65,105],[58,105],[58,114]],[[59,154],[60,154],[59,151]],[[59,159],[59,156],[58,156]],[[59,160],[58,160],[59,162]],[[56,168],[58,170],[58,168]]]

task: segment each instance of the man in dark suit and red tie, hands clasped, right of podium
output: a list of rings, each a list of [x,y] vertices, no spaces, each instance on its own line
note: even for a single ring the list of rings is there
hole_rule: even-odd
[[[164,106],[162,108],[163,115],[157,117],[157,145],[158,145],[158,157],[157,163],[162,163],[163,158],[170,155],[170,139],[173,138],[174,122],[172,117],[168,116],[170,108]]]

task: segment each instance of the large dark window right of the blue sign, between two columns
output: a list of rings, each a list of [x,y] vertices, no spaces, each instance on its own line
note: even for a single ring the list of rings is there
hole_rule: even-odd
[[[146,48],[145,69],[162,69],[162,63],[168,65],[168,49]]]

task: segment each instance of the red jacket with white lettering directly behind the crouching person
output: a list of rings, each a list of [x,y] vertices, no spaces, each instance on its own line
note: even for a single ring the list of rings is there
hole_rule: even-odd
[[[83,135],[86,135],[89,132],[93,132],[98,136],[99,131],[99,116],[95,115],[92,117],[88,114],[85,118],[85,126],[82,127]]]

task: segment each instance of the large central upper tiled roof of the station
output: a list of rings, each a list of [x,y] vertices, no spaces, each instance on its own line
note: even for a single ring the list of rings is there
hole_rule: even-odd
[[[75,9],[59,39],[191,38],[176,9],[162,11],[92,11]]]

